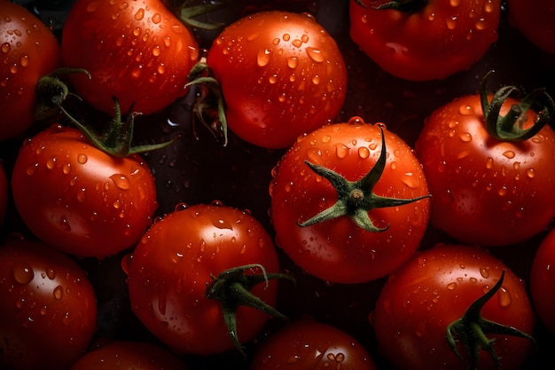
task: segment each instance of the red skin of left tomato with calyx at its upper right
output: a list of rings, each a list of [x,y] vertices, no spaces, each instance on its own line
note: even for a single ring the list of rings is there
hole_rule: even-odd
[[[23,143],[12,193],[36,237],[74,256],[98,258],[134,245],[158,204],[141,157],[113,157],[80,130],[59,124]]]

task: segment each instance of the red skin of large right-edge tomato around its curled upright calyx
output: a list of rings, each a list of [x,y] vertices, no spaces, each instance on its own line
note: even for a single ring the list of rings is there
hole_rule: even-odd
[[[518,100],[509,98],[501,114]],[[535,111],[528,110],[528,122]],[[485,128],[480,96],[456,98],[427,119],[415,144],[430,187],[430,222],[467,244],[503,246],[541,232],[555,216],[555,133],[508,142]]]

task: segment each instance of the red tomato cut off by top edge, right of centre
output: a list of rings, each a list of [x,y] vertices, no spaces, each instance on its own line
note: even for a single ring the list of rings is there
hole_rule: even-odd
[[[485,55],[496,42],[500,14],[499,0],[350,0],[350,35],[391,75],[443,79]]]

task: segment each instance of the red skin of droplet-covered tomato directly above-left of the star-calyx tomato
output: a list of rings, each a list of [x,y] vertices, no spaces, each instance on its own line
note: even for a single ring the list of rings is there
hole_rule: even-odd
[[[290,146],[332,121],[347,92],[339,47],[306,14],[258,12],[236,21],[215,39],[207,64],[222,86],[229,128],[256,146]]]

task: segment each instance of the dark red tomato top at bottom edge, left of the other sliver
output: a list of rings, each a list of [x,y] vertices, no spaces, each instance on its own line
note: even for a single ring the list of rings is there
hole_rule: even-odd
[[[100,344],[79,358],[71,370],[185,370],[172,352],[148,342],[115,341]]]

